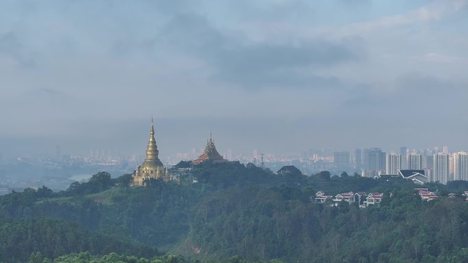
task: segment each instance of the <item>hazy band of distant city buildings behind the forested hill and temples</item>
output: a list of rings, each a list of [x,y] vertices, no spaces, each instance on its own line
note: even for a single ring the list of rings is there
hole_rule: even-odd
[[[201,163],[208,158],[226,161],[216,151],[214,143],[210,143],[210,140],[208,140],[207,147],[211,144],[212,147],[205,149],[188,148],[185,152],[163,156],[160,160],[157,157],[157,161],[161,165],[159,165],[159,169],[153,170],[149,169],[151,167],[143,169],[144,167],[140,165],[146,161],[148,153],[146,153],[146,156],[144,154],[120,155],[120,151],[99,148],[100,146],[96,146],[96,148],[89,151],[89,154],[83,156],[75,156],[70,153],[64,154],[63,149],[58,145],[55,146],[55,149],[52,145],[48,154],[38,158],[12,156],[8,151],[4,152],[7,155],[3,156],[0,151],[0,185],[8,186],[10,189],[21,189],[27,186],[25,180],[21,178],[21,174],[27,174],[27,176],[31,174],[30,171],[25,169],[28,166],[34,167],[31,170],[42,171],[40,175],[35,172],[34,176],[47,181],[48,185],[55,184],[56,189],[68,187],[70,184],[68,180],[78,180],[75,179],[78,178],[75,176],[83,176],[79,178],[86,179],[90,178],[96,171],[103,170],[112,172],[113,176],[120,176],[121,174],[131,174],[135,171],[135,167],[139,167],[136,169],[140,169],[138,174],[144,174],[146,171],[151,174],[151,171],[153,171],[153,174],[164,177],[166,171],[171,169],[171,165],[175,165],[179,161],[194,160],[194,163]],[[441,152],[439,152],[439,149]],[[263,154],[262,150],[252,149],[246,150],[246,153],[235,152],[233,154],[232,149],[226,149],[223,153],[229,161],[255,163],[255,165],[258,164],[262,167],[264,165],[265,168],[273,171],[286,165],[294,165],[307,175],[316,174],[320,171],[330,171],[333,176],[339,176],[343,171],[346,171],[350,175],[360,174],[369,178],[378,178],[383,175],[400,175],[407,179],[411,178],[411,180],[418,183],[419,181],[428,180],[447,184],[452,180],[468,180],[467,152],[452,153],[447,146],[441,148],[434,146],[433,148],[423,149],[402,146],[395,150],[392,151],[395,153],[386,154],[386,152],[382,151],[382,148],[357,148],[351,152],[348,150],[316,148],[303,149],[298,153]],[[153,153],[153,156],[157,155]],[[416,174],[411,174],[410,171],[416,171]],[[51,174],[55,177],[50,177]],[[40,186],[39,181],[33,182],[31,185]]]

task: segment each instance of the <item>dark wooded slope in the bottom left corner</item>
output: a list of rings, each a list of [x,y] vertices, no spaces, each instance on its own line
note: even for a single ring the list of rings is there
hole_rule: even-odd
[[[158,255],[146,245],[132,245],[92,233],[76,223],[55,219],[7,221],[0,219],[0,259],[4,262],[27,260],[31,253],[41,251],[48,258],[90,251],[90,253],[130,253],[139,256]]]

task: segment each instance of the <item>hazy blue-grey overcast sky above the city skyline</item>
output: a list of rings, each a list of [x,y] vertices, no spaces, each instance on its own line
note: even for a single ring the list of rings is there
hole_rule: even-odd
[[[0,1],[0,152],[468,150],[468,0]]]

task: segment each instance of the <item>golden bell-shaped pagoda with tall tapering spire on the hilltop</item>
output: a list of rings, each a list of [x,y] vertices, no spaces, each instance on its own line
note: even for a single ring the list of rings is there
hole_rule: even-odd
[[[155,128],[153,127],[153,118],[151,118],[151,131],[148,146],[146,147],[146,158],[133,173],[133,185],[144,185],[144,180],[150,178],[170,180],[168,169],[164,168],[164,165],[159,161],[158,155]]]

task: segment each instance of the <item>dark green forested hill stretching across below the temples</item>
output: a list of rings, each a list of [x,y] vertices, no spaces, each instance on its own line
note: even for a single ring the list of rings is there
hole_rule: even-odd
[[[426,202],[400,178],[278,175],[240,163],[204,163],[192,175],[197,183],[130,187],[131,176],[101,172],[59,193],[1,196],[0,262],[109,262],[113,252],[129,255],[122,262],[468,262],[468,206],[447,197],[466,182],[430,184],[440,198]],[[330,206],[313,202],[319,190],[384,198]]]

